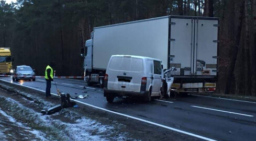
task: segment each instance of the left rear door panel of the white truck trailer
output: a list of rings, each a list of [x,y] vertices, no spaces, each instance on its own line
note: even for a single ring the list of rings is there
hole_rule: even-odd
[[[189,18],[171,18],[170,24],[170,67],[176,67],[182,75],[191,75],[194,22]]]

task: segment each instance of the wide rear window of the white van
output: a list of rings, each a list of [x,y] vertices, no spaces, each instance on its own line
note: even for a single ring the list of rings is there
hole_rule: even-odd
[[[113,57],[109,65],[109,69],[142,72],[143,61],[141,58]]]

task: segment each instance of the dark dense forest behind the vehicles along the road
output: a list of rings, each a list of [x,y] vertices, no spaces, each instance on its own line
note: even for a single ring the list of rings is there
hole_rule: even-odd
[[[166,15],[219,17],[217,91],[256,96],[256,0],[18,0],[0,3],[0,46],[15,65],[82,76],[94,27]]]

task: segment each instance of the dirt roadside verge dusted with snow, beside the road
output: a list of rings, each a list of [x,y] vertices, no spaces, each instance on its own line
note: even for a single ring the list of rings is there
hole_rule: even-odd
[[[42,132],[42,136],[48,140],[201,140],[78,103],[79,108],[62,109],[52,115],[40,115],[42,109],[60,104],[60,100],[46,99],[43,92],[2,81],[0,88],[0,108],[18,122]],[[38,119],[42,118],[47,119],[47,123],[40,124]],[[83,126],[87,128],[73,128],[77,126],[77,121],[82,119],[86,119]],[[21,137],[17,136],[16,139]]]

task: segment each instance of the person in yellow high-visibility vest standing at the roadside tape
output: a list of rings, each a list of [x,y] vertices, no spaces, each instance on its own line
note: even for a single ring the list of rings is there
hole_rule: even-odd
[[[53,68],[55,66],[54,62],[51,62],[47,67],[46,67],[46,73],[45,73],[45,78],[46,78],[46,98],[51,97],[51,81],[53,81]]]

